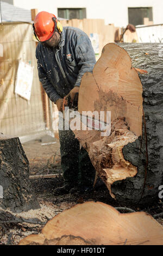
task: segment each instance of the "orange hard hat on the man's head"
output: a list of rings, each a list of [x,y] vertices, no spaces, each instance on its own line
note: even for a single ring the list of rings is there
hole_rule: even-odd
[[[47,11],[41,11],[36,15],[34,20],[35,34],[41,42],[52,37],[56,24],[54,19],[57,21],[57,17],[54,14],[47,13]]]

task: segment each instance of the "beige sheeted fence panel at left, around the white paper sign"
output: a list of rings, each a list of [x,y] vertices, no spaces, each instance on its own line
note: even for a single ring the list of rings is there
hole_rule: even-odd
[[[32,24],[1,23],[0,45],[0,132],[9,136],[23,136],[45,130],[42,104],[44,92],[37,75]],[[30,101],[15,94],[19,60],[34,66]]]

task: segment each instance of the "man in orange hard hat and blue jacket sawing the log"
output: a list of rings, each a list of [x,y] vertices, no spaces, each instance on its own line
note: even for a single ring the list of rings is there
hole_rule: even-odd
[[[92,72],[96,64],[89,37],[74,27],[62,28],[55,15],[41,11],[34,20],[34,34],[39,80],[49,99],[62,112],[65,96],[74,100],[79,93],[85,72]],[[71,130],[59,130],[61,167],[64,186],[55,188],[55,194],[66,194],[79,187],[89,190],[95,180],[95,169],[84,148]]]

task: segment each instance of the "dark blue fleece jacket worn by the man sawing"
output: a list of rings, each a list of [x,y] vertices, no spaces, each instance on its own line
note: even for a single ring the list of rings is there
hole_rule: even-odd
[[[92,72],[95,52],[86,33],[78,28],[64,27],[58,47],[36,48],[39,80],[54,103],[64,98],[80,82],[85,72]]]

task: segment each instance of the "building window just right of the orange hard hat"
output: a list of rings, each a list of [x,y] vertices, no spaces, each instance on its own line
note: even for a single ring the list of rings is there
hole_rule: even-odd
[[[58,8],[58,17],[67,20],[82,20],[86,18],[86,8]]]

